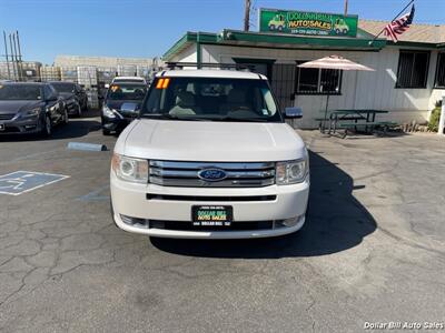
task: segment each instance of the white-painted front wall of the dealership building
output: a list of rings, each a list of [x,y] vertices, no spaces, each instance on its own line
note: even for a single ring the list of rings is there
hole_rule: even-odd
[[[425,121],[439,99],[442,91],[434,90],[437,52],[433,51],[426,89],[396,89],[399,48],[387,47],[380,52],[281,50],[240,48],[227,46],[202,46],[202,62],[231,63],[233,58],[275,59],[276,63],[295,63],[296,60],[313,60],[330,54],[343,56],[375,69],[375,72],[344,72],[342,95],[329,98],[329,109],[388,110],[379,119],[397,122]],[[182,51],[175,61],[196,61],[196,47]],[[314,118],[320,117],[326,105],[325,95],[296,95],[295,104],[304,110],[303,128],[315,128]]]

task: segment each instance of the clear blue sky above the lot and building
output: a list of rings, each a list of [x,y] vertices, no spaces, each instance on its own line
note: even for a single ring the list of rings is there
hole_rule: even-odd
[[[23,59],[162,56],[186,31],[243,29],[244,0],[0,0],[0,30],[18,30]],[[251,0],[258,8],[343,12],[345,0]],[[348,12],[390,21],[408,0],[349,0]],[[445,24],[445,0],[416,0],[417,23]],[[0,40],[0,54],[4,53]]]

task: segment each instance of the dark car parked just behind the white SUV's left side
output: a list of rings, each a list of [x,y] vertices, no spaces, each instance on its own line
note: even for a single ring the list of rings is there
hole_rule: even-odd
[[[115,83],[107,91],[102,107],[102,133],[119,132],[138,117],[147,93],[144,83]]]

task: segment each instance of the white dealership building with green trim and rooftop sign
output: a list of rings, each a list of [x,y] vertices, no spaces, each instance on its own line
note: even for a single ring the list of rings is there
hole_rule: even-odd
[[[246,64],[268,75],[281,108],[303,108],[303,128],[318,125],[327,95],[329,109],[387,110],[386,119],[399,123],[426,121],[445,95],[445,26],[412,24],[394,43],[375,39],[388,22],[356,16],[265,9],[259,16],[258,32],[187,32],[162,60]],[[296,67],[332,54],[375,72]]]

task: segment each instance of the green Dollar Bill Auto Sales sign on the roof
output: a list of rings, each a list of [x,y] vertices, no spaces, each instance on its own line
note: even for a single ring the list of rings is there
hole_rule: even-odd
[[[259,31],[310,36],[357,37],[358,16],[279,9],[259,10]]]

